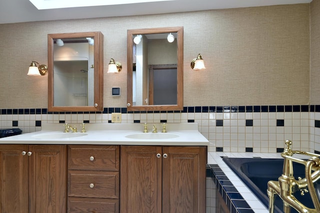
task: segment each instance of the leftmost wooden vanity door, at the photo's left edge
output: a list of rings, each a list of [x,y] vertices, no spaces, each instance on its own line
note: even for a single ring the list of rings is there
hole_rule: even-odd
[[[27,148],[27,145],[0,145],[1,213],[28,212]]]

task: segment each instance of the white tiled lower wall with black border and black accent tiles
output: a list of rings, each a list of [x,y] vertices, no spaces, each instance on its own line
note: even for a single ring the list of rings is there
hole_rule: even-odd
[[[39,131],[43,123],[110,123],[120,112],[122,123],[198,123],[209,140],[209,151],[276,153],[283,141],[296,150],[320,152],[320,105],[195,106],[182,111],[127,112],[104,108],[103,112],[47,112],[47,109],[1,109],[0,128]],[[170,126],[167,126],[170,129]]]

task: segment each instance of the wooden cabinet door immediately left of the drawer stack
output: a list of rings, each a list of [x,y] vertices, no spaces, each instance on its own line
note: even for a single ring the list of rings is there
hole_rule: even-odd
[[[29,145],[29,212],[66,212],[66,146]]]

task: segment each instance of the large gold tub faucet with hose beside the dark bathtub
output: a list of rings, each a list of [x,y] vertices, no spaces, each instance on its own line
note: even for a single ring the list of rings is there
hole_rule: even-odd
[[[315,193],[313,183],[320,180],[320,155],[304,152],[304,151],[293,151],[290,148],[291,141],[286,140],[286,148],[281,153],[284,158],[282,175],[278,178],[278,181],[269,181],[267,194],[269,197],[269,213],[274,211],[274,196],[278,195],[283,201],[283,212],[290,213],[291,207],[300,213],[319,213],[320,202]],[[311,156],[308,161],[304,161],[298,158],[292,157],[293,154],[301,154]],[[305,178],[295,180],[293,177],[293,166],[292,162],[300,163],[305,166]],[[311,174],[311,171],[314,171]],[[294,192],[300,191],[301,195],[306,192],[310,192],[310,196],[315,209],[305,207],[295,197]]]

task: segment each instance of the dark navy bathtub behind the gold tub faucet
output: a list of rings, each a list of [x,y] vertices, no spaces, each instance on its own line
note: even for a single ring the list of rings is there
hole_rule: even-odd
[[[268,208],[267,182],[270,180],[277,181],[278,177],[281,176],[283,159],[223,157],[222,160]],[[304,178],[304,166],[293,162],[293,175],[296,180],[298,177]],[[301,196],[300,192],[296,192],[294,196],[306,207],[314,208],[309,193]],[[283,213],[282,200],[278,196],[276,196],[274,205],[275,213]],[[292,208],[291,213],[297,213],[297,211]]]

